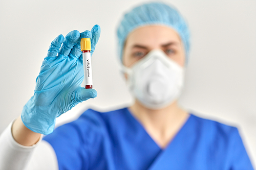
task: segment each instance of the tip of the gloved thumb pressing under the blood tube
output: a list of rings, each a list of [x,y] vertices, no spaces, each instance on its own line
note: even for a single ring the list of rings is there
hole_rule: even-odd
[[[80,87],[77,90],[78,102],[83,102],[91,98],[96,98],[96,96],[97,96],[97,91],[92,88],[86,89],[84,87]]]

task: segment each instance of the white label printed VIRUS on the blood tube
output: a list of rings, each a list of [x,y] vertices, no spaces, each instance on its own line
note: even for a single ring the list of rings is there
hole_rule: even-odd
[[[82,53],[84,85],[93,85],[91,53]]]

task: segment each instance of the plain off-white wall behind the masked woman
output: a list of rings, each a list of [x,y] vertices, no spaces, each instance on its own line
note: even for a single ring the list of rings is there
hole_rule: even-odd
[[[111,110],[132,98],[118,70],[116,27],[131,1],[0,2],[0,133],[33,95],[51,41],[59,34],[101,26],[93,55],[98,96],[57,119],[77,118],[90,106]],[[193,113],[239,128],[256,161],[256,1],[164,1],[174,4],[191,29],[191,53],[180,103]]]

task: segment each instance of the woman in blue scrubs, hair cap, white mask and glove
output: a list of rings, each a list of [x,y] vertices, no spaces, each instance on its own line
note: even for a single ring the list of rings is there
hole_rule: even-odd
[[[81,87],[80,39],[91,38],[93,54],[99,36],[96,25],[52,41],[34,95],[1,135],[0,169],[253,169],[237,128],[178,106],[189,31],[181,14],[162,3],[134,8],[118,27],[134,104],[89,109],[54,130],[56,117],[97,96]]]

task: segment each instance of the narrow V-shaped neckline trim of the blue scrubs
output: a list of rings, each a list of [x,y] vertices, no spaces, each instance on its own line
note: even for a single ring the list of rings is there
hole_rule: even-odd
[[[156,145],[157,148],[159,148],[159,150],[164,151],[167,148],[169,148],[170,145],[172,145],[173,141],[177,138],[177,136],[182,133],[183,131],[185,131],[184,129],[186,129],[186,127],[188,126],[187,124],[189,124],[191,117],[193,116],[193,114],[188,113],[188,117],[186,119],[186,121],[183,123],[183,125],[181,126],[181,128],[178,130],[178,132],[174,135],[174,137],[172,138],[172,140],[169,141],[169,143],[166,145],[165,148],[161,148],[156,141],[150,136],[150,134],[147,133],[147,131],[145,130],[145,128],[142,126],[142,124],[139,122],[139,120],[133,116],[133,114],[131,113],[131,111],[129,110],[129,108],[126,108],[126,111],[128,113],[128,115],[131,117],[131,119],[135,122],[135,124],[137,124],[143,131],[144,133],[150,138],[150,140]]]

